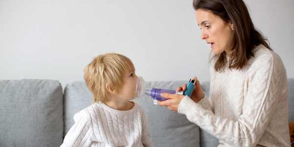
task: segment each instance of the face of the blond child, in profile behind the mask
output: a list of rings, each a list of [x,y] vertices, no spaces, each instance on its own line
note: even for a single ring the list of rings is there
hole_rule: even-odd
[[[136,80],[138,76],[135,74],[133,69],[129,69],[128,72],[125,73],[125,83],[120,88],[117,98],[121,100],[132,100],[134,99],[135,91],[136,91]]]

